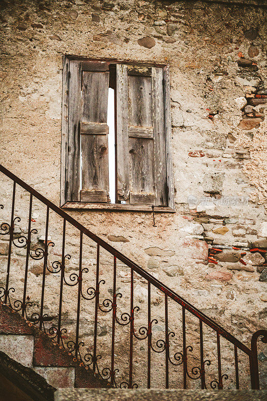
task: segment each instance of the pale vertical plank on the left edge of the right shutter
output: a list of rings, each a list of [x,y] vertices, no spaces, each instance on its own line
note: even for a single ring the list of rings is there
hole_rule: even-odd
[[[117,200],[129,203],[127,66],[116,65]]]

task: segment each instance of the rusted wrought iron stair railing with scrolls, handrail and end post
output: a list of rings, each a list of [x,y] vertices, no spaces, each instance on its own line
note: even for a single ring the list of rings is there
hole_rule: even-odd
[[[137,387],[136,381],[138,381],[138,377],[135,375],[135,361],[134,357],[134,348],[137,340],[146,340],[147,344],[147,352],[139,353],[139,357],[143,358],[146,365],[146,383],[145,385],[150,388],[152,385],[152,374],[153,369],[157,370],[158,366],[154,366],[153,357],[154,355],[163,355],[163,366],[164,366],[164,374],[165,374],[165,387],[169,388],[170,386],[170,369],[172,366],[176,368],[181,365],[181,383],[183,388],[190,387],[189,381],[199,379],[199,385],[202,389],[207,388],[207,369],[211,365],[213,361],[210,359],[205,359],[205,349],[204,349],[204,340],[203,340],[203,332],[204,326],[208,326],[209,329],[215,334],[216,338],[216,352],[217,358],[214,361],[216,364],[216,376],[213,376],[213,379],[209,381],[209,386],[211,388],[222,389],[224,386],[224,381],[228,379],[228,375],[222,370],[221,358],[223,354],[223,348],[221,347],[221,340],[227,340],[227,342],[232,346],[233,345],[233,353],[232,353],[232,365],[234,366],[235,377],[233,381],[235,382],[235,387],[239,388],[239,353],[243,353],[243,355],[248,358],[249,364],[249,374],[250,374],[250,383],[252,389],[259,388],[259,374],[258,374],[258,361],[257,361],[257,339],[261,337],[262,342],[267,342],[267,331],[259,330],[252,335],[251,338],[251,347],[247,347],[245,344],[240,342],[237,338],[231,335],[228,331],[226,331],[223,327],[217,324],[214,320],[210,319],[208,316],[203,314],[200,310],[195,308],[185,299],[180,297],[170,288],[165,286],[162,282],[156,279],[154,276],[146,272],[135,262],[128,259],[121,252],[117,251],[115,248],[110,246],[108,243],[103,241],[101,238],[90,232],[83,225],[81,225],[78,221],[73,219],[71,216],[66,214],[63,210],[54,205],[50,200],[45,198],[39,192],[37,192],[34,188],[26,184],[23,180],[18,178],[4,166],[0,165],[0,171],[9,177],[13,181],[13,192],[12,192],[12,209],[11,209],[11,221],[9,223],[1,224],[1,234],[9,236],[9,247],[8,247],[8,258],[7,258],[7,274],[6,274],[6,282],[3,287],[0,287],[0,300],[5,304],[8,304],[14,310],[21,311],[23,317],[25,317],[28,321],[31,321],[33,324],[39,326],[41,330],[44,330],[57,344],[63,346],[68,352],[72,353],[75,358],[82,359],[82,363],[89,366],[93,369],[95,374],[99,374],[105,379],[109,380],[111,386],[121,387],[121,388],[134,388]],[[20,221],[19,217],[15,217],[15,204],[16,204],[16,190],[17,187],[20,186],[27,192],[29,192],[29,214],[28,214],[28,233],[25,235],[20,235],[14,237],[14,226],[16,222]],[[38,199],[46,208],[46,222],[45,222],[45,240],[44,247],[40,248],[31,248],[32,244],[32,236],[37,234],[37,230],[32,229],[32,211],[33,211],[33,199]],[[0,205],[1,209],[3,209],[3,205]],[[62,256],[60,261],[55,261],[49,267],[48,264],[48,255],[50,246],[53,246],[53,242],[48,238],[49,232],[49,219],[50,212],[53,211],[57,214],[58,218],[62,219],[63,222],[63,231],[62,231]],[[65,251],[65,243],[66,243],[66,223],[70,224],[72,228],[76,228],[79,232],[79,251],[77,255],[79,255],[79,269],[78,273],[71,273],[67,278],[65,272],[66,261],[70,260],[71,256]],[[89,272],[89,267],[83,267],[83,243],[84,238],[89,238],[96,245],[96,263],[95,263],[95,286],[89,287],[86,291],[83,290],[83,280],[84,274]],[[23,283],[23,293],[19,298],[17,297],[16,289],[10,286],[10,272],[12,266],[12,249],[13,248],[24,248],[26,250],[26,259],[25,259],[25,272],[24,272],[24,283]],[[108,254],[112,255],[112,283],[111,283],[111,297],[104,298],[103,301],[100,301],[103,294],[100,291],[100,287],[105,284],[105,280],[100,279],[100,257],[101,251],[105,250]],[[29,263],[30,260],[41,260],[43,262],[43,271],[42,271],[42,280],[41,280],[41,288],[40,288],[40,309],[38,311],[31,312],[29,315],[29,310],[33,307],[32,302],[29,300],[28,292],[31,291],[28,283],[28,275],[29,275]],[[118,300],[122,297],[122,294],[117,291],[116,280],[117,280],[117,261],[120,261],[129,269],[129,310],[123,312],[118,315],[117,307]],[[90,269],[94,269],[94,267],[90,267]],[[44,305],[45,305],[45,288],[46,288],[46,273],[58,273],[60,277],[60,284],[58,287],[58,316],[56,324],[53,324],[51,327],[47,328],[47,323],[52,319],[47,313],[44,313]],[[142,278],[142,282],[146,284],[147,287],[147,303],[145,305],[146,309],[146,319],[147,325],[142,326],[140,328],[136,328],[136,314],[140,310],[139,306],[135,306],[135,297],[134,297],[134,281],[135,275]],[[126,285],[126,284],[125,284]],[[75,338],[68,339],[65,341],[65,334],[67,330],[62,328],[62,307],[63,307],[63,290],[65,287],[75,287],[77,286],[77,299],[76,299],[76,319],[75,319]],[[102,287],[101,287],[102,288]],[[164,309],[164,338],[158,339],[155,341],[153,328],[158,323],[157,318],[152,318],[152,316],[157,313],[157,306],[153,308],[152,311],[152,290],[157,290],[163,295],[163,309]],[[15,296],[15,301],[14,301]],[[80,330],[80,314],[81,314],[81,301],[92,301],[94,302],[93,306],[93,341],[92,346],[89,348],[89,352],[82,355],[81,347],[84,346],[84,342],[80,340],[79,330]],[[177,350],[171,355],[170,348],[173,346],[171,344],[171,339],[176,336],[174,331],[170,330],[170,318],[169,318],[169,304],[170,302],[174,302],[176,305],[175,316],[177,317],[179,312],[182,312],[181,321],[181,350]],[[179,307],[181,306],[181,309]],[[110,357],[110,364],[106,367],[100,368],[99,361],[101,359],[101,353],[98,347],[98,321],[99,314],[106,314],[111,312],[110,315],[110,324],[111,324],[111,346],[110,349],[106,349],[103,353]],[[197,340],[197,344],[199,344],[199,364],[189,368],[188,355],[191,353],[193,347],[188,344],[188,329],[187,329],[187,316],[188,313],[190,316],[194,316],[197,323],[195,324],[195,332],[199,333],[199,338]],[[156,316],[157,317],[157,316]],[[173,325],[173,321],[171,321]],[[128,326],[128,334],[126,337],[122,335],[123,340],[120,346],[124,346],[124,352],[128,352],[128,367],[127,367],[127,379],[123,379],[120,383],[117,382],[118,377],[118,368],[115,363],[115,333],[119,328],[125,329]],[[122,338],[121,337],[121,338]],[[176,337],[177,338],[177,337]],[[177,345],[176,345],[177,346]],[[88,348],[87,348],[88,349]],[[101,349],[101,351],[103,351]],[[102,357],[102,361],[105,362],[105,358]],[[125,369],[124,369],[125,370]],[[144,373],[144,372],[143,372]],[[125,374],[124,374],[125,377]],[[178,380],[179,381],[179,380]],[[143,383],[144,385],[144,383]]]

